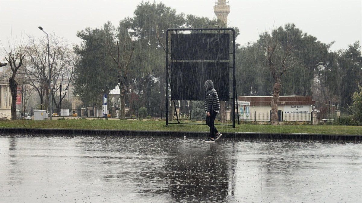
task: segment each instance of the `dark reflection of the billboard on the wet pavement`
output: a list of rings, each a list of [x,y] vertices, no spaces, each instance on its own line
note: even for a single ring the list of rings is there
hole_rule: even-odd
[[[227,159],[219,143],[202,147],[173,146],[167,165],[169,191],[176,200],[224,200],[228,194]],[[169,168],[168,168],[169,167]]]

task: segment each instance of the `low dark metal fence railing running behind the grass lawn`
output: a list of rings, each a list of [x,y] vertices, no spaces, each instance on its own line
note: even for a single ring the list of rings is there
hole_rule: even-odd
[[[34,116],[34,111],[42,110],[40,108],[31,108],[31,111],[20,112],[17,111],[18,118],[31,119]],[[107,110],[83,108],[83,109],[52,109],[53,116],[64,117],[95,117],[95,118],[120,118],[120,110]],[[126,111],[126,118],[142,119],[142,118],[165,118],[165,111],[145,112],[145,111]],[[206,119],[206,113],[200,111],[178,111],[177,117],[179,120],[201,120]],[[239,120],[243,121],[270,121],[271,113],[257,113],[257,112],[244,112],[239,113]],[[232,116],[230,112],[226,113],[226,120],[231,120]],[[236,117],[237,118],[237,117]],[[315,113],[284,113],[278,112],[278,121],[302,121],[309,122],[312,125],[358,125],[353,117],[320,117]],[[174,113],[174,119],[176,119],[176,113]],[[220,120],[218,115],[216,119]]]

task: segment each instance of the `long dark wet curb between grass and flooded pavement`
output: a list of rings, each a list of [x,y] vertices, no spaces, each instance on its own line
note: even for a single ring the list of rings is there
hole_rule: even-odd
[[[188,131],[146,131],[146,130],[93,130],[93,129],[41,129],[41,128],[0,128],[0,134],[21,134],[26,136],[148,136],[148,137],[203,137],[206,132]],[[1,135],[0,135],[1,137]],[[261,140],[323,140],[361,142],[362,135],[303,134],[303,133],[223,133],[226,138]]]

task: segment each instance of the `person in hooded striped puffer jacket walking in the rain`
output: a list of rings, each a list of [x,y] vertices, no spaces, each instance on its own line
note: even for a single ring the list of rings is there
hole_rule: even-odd
[[[207,80],[204,84],[206,88],[205,99],[205,112],[206,112],[206,124],[210,127],[210,137],[205,142],[215,142],[221,135],[218,129],[214,125],[215,117],[220,110],[220,102],[218,92],[214,88],[214,83],[211,80]]]

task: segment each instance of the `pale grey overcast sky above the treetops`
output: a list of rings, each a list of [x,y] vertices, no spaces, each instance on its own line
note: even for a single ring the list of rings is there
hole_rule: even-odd
[[[303,32],[314,35],[324,43],[336,41],[332,51],[347,48],[348,44],[362,38],[362,1],[276,1],[228,0],[231,11],[228,26],[239,27],[236,42],[255,42],[258,34],[273,28],[295,23]],[[0,0],[0,40],[6,47],[11,36],[22,34],[35,38],[47,33],[79,44],[77,31],[86,27],[101,27],[106,21],[117,25],[119,20],[132,17],[139,0],[113,1],[4,1]],[[160,1],[156,1],[157,3]],[[165,0],[168,7],[178,13],[216,18],[215,0]]]

